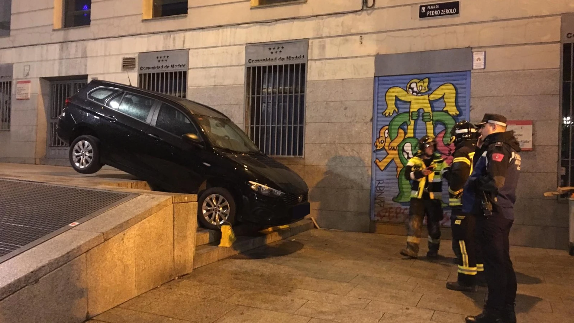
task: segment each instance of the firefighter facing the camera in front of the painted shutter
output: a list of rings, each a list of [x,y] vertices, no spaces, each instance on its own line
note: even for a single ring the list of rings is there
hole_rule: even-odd
[[[408,236],[401,255],[418,257],[422,221],[426,218],[428,247],[426,256],[436,258],[440,247],[440,221],[443,219],[443,172],[447,168],[444,158],[436,150],[435,138],[425,135],[418,141],[417,154],[409,159],[405,177],[412,183],[410,193]]]

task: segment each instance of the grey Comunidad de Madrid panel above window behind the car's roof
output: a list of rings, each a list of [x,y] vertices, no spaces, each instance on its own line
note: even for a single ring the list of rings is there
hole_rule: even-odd
[[[189,50],[139,53],[138,72],[178,72],[189,69]]]

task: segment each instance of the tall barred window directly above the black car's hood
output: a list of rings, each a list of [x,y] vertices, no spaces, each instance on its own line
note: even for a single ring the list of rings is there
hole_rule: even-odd
[[[305,65],[247,68],[249,137],[268,155],[303,155]]]

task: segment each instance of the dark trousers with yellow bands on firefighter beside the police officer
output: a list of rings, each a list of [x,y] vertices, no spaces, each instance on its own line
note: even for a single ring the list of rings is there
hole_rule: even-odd
[[[460,208],[452,208],[452,246],[458,264],[461,285],[475,285],[476,275],[484,271],[482,253],[476,236],[476,217],[464,215]]]

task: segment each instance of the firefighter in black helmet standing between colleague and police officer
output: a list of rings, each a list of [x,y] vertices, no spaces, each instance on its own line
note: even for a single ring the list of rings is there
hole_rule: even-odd
[[[479,248],[475,242],[475,217],[462,213],[460,197],[463,186],[474,166],[474,154],[478,131],[463,120],[451,130],[451,143],[455,145],[452,164],[444,177],[448,181],[449,205],[451,206],[452,250],[458,264],[456,282],[447,282],[447,288],[459,291],[476,291],[476,275],[483,271]]]

